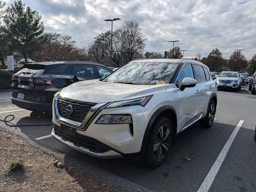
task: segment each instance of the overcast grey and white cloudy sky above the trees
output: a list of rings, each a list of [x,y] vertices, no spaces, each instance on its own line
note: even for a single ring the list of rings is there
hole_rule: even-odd
[[[13,1],[7,1],[10,5]],[[93,37],[111,28],[104,19],[138,21],[147,37],[145,51],[162,52],[173,47],[170,40],[185,52],[207,56],[219,48],[224,58],[235,49],[247,59],[256,54],[256,0],[207,1],[107,1],[107,0],[22,0],[42,15],[46,32],[60,32],[73,37],[77,46],[87,46]]]

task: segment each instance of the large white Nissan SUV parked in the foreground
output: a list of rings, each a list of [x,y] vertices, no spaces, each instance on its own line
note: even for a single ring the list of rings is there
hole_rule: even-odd
[[[106,78],[55,94],[52,136],[98,158],[140,157],[156,167],[179,132],[213,124],[217,86],[191,59],[138,59]]]

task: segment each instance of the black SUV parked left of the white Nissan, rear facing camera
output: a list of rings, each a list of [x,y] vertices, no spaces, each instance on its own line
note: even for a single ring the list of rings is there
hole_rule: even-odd
[[[24,109],[51,112],[53,96],[73,82],[104,78],[112,70],[93,62],[39,62],[24,64],[12,76],[12,104]]]

